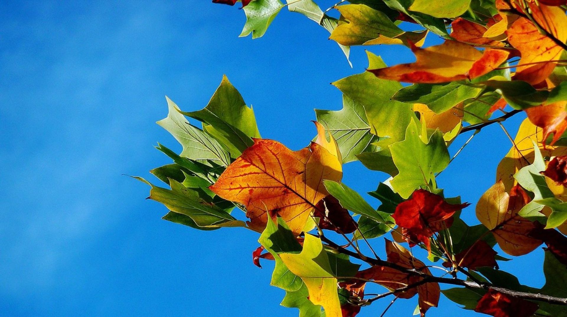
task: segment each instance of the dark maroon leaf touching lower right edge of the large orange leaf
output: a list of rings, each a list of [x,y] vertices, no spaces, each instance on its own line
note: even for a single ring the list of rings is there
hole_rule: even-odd
[[[353,233],[358,225],[349,211],[342,208],[337,198],[328,195],[315,206],[314,217],[319,217],[321,229],[333,230],[337,233]]]

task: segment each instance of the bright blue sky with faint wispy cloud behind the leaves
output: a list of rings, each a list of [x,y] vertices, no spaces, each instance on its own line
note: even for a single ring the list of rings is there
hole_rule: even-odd
[[[323,28],[286,9],[263,38],[239,38],[239,6],[0,2],[0,315],[297,316],[278,305],[272,264],[252,264],[257,234],[163,221],[166,208],[144,199],[149,188],[122,176],[157,182],[147,171],[170,159],[153,146],[180,150],[155,124],[167,115],[164,96],[201,109],[223,74],[253,105],[263,137],[294,150],[315,135],[314,108],[341,108],[329,83],[361,73],[363,49],[353,49],[351,69]],[[389,65],[413,61],[400,46],[369,49]],[[511,133],[521,120],[506,122]],[[475,204],[509,148],[497,125],[483,129],[439,186]],[[344,170],[361,192],[386,179],[359,163]],[[478,223],[474,206],[463,214]],[[542,261],[536,250],[501,268],[541,286]],[[378,316],[389,302],[359,316]],[[416,303],[400,299],[386,316],[411,316]],[[447,314],[476,315],[446,299],[428,312]]]

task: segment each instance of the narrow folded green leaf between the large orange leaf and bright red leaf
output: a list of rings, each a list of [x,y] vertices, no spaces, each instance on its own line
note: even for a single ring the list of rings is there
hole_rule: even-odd
[[[348,188],[345,184],[337,183],[332,180],[324,180],[323,184],[329,194],[335,196],[343,208],[364,215],[367,218],[373,219],[375,222],[385,224],[395,223],[390,214],[374,210],[362,196]]]

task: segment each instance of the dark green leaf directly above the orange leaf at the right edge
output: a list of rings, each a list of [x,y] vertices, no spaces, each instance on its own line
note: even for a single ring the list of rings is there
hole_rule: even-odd
[[[526,109],[540,105],[547,99],[547,91],[537,91],[524,81],[494,80],[482,82],[500,92],[506,102],[514,109]]]

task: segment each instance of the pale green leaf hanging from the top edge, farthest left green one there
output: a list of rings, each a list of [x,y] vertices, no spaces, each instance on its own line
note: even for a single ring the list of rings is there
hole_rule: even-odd
[[[253,0],[243,8],[246,24],[240,36],[252,33],[252,39],[262,37],[284,5],[280,0]]]

